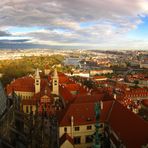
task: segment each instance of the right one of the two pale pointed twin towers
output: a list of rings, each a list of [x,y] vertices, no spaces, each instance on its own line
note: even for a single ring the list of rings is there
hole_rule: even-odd
[[[56,68],[52,77],[52,93],[59,95],[59,77]]]

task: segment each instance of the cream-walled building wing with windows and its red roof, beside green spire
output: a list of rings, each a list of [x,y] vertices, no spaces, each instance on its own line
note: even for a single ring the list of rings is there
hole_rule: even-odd
[[[73,139],[75,148],[91,147],[93,135],[96,131],[94,107],[94,102],[73,103],[65,109],[66,111],[59,113],[59,138],[67,134]],[[101,121],[100,133],[103,133],[103,131],[104,124]]]

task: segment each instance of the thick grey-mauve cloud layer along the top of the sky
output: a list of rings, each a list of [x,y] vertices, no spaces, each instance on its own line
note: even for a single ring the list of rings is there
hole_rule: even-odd
[[[1,24],[10,26],[67,25],[96,20],[130,21],[147,13],[146,0],[5,0]],[[72,23],[71,23],[72,22]]]

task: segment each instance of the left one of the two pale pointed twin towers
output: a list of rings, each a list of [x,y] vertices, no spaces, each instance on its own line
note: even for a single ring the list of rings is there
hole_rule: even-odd
[[[39,74],[39,69],[37,68],[35,72],[35,93],[40,92],[40,86],[41,85],[41,78]]]

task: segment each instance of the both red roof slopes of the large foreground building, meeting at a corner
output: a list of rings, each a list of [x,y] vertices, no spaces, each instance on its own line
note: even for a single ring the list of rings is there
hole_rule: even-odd
[[[72,103],[58,114],[60,126],[74,126],[95,123],[95,103]],[[148,142],[148,123],[116,100],[103,102],[100,122],[107,123],[127,148],[139,148]]]

